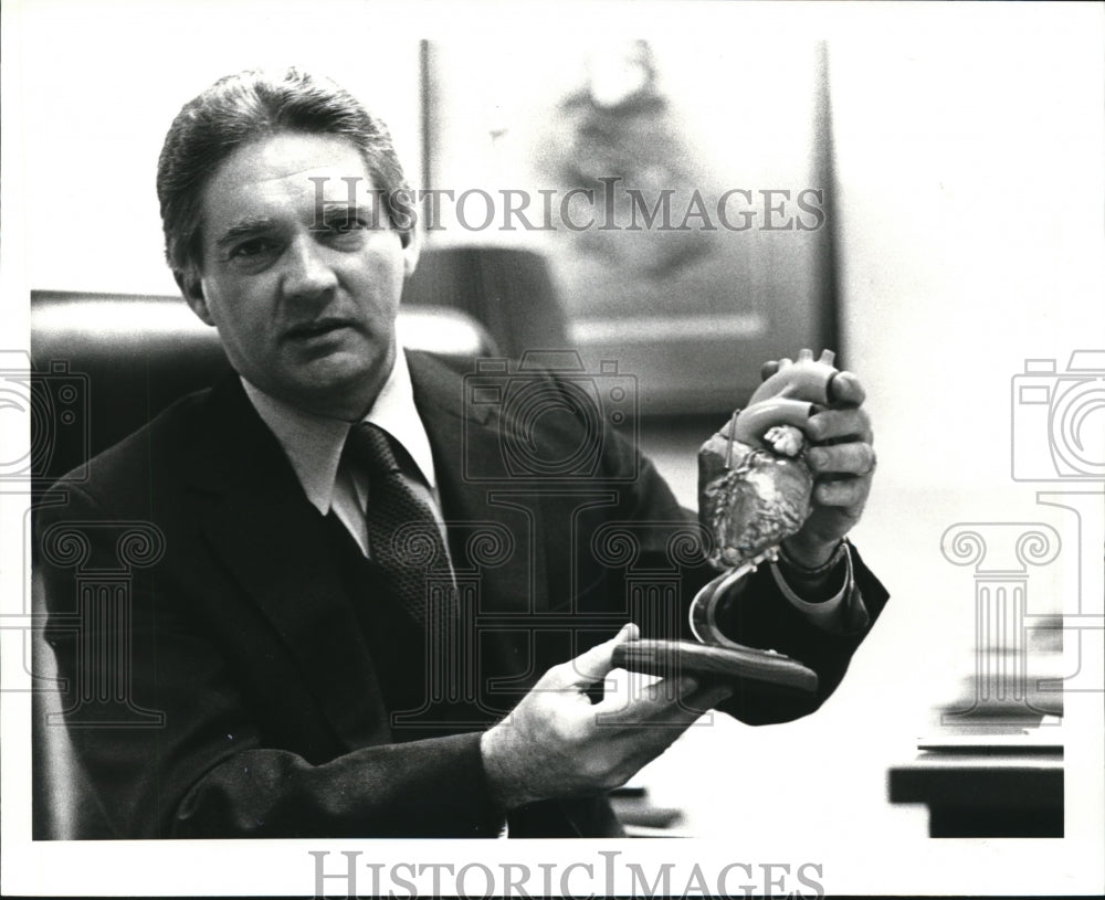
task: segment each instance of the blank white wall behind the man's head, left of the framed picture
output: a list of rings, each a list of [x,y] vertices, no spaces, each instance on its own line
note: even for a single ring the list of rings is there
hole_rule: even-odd
[[[295,64],[329,74],[388,123],[418,173],[419,35],[368,3],[31,0],[9,21],[22,30],[18,141],[33,288],[177,293],[161,253],[157,156],[181,105],[231,72]]]

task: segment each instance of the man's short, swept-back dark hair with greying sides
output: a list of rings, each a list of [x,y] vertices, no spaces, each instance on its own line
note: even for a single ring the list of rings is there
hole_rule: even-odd
[[[345,88],[324,76],[290,67],[250,70],[217,81],[185,104],[165,137],[157,161],[165,256],[173,272],[202,264],[202,197],[220,165],[239,147],[281,133],[335,135],[357,149],[382,192],[388,218],[403,245],[393,198],[408,190],[388,127]]]

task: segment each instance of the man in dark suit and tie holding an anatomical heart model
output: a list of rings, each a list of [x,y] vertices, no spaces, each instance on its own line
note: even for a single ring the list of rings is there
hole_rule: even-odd
[[[818,696],[729,698],[684,677],[592,701],[639,633],[609,637],[634,610],[600,536],[636,528],[638,565],[680,565],[684,603],[712,573],[701,553],[673,562],[686,515],[612,433],[577,484],[465,477],[466,456],[502,462],[518,422],[466,404],[456,373],[398,345],[417,262],[402,187],[383,127],[294,70],[220,81],[166,138],[169,264],[238,377],[97,456],[38,528],[56,621],[77,593],[59,551],[74,530],[86,569],[115,564],[104,526],[151,522],[164,542],[123,620],[51,634],[80,679],[88,648],[125,629],[126,701],[164,716],[71,729],[119,837],[615,835],[604,791],[713,706],[751,722],[817,708],[885,601],[841,542],[874,458],[862,388],[841,377],[845,403],[809,428],[831,478],[734,635],[813,667]],[[560,458],[596,438],[587,427],[538,416],[526,437]]]

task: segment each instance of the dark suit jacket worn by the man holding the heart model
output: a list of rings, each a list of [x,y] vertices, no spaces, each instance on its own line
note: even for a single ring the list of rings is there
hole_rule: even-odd
[[[119,837],[493,836],[502,811],[482,729],[627,615],[653,631],[685,618],[632,600],[650,596],[639,589],[651,578],[685,606],[712,574],[673,550],[687,513],[635,448],[578,416],[539,416],[545,458],[598,440],[596,467],[519,480],[503,453],[511,411],[466,404],[462,379],[428,357],[410,366],[454,565],[476,585],[480,658],[467,665],[480,666],[478,699],[456,733],[397,739],[380,687],[389,673],[335,572],[326,522],[236,378],[96,457],[85,484],[55,487],[40,511],[48,639],[71,686],[71,735]],[[151,546],[136,551],[124,534],[141,522],[155,527]],[[488,553],[480,529],[505,544]],[[617,537],[627,532],[629,555]],[[873,621],[885,592],[859,568]],[[107,582],[125,587],[105,594]],[[730,710],[753,722],[804,714],[835,688],[870,623],[827,635],[770,579],[754,593],[737,636],[806,660],[822,688],[806,703],[748,696]],[[617,833],[603,797],[512,815],[519,836]]]

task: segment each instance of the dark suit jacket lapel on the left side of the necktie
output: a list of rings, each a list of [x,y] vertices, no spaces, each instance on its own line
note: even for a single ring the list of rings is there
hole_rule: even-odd
[[[280,634],[336,732],[354,747],[386,739],[376,675],[329,564],[325,520],[238,379],[209,403],[212,427],[191,473],[207,495],[203,533]]]

